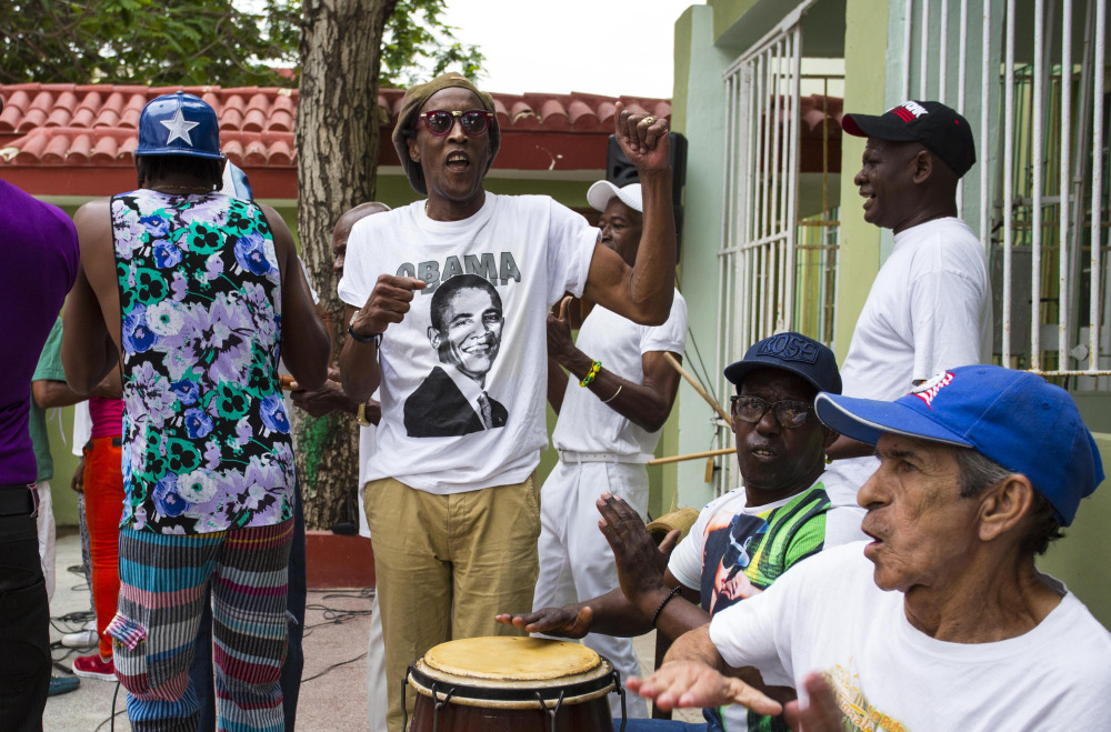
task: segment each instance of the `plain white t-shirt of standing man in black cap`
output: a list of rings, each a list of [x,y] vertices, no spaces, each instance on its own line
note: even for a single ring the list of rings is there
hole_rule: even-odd
[[[991,357],[991,285],[983,247],[960,219],[895,234],[841,367],[845,397],[894,401],[945,369]],[[858,489],[880,463],[837,460],[830,472]]]

